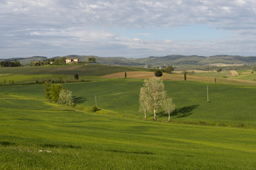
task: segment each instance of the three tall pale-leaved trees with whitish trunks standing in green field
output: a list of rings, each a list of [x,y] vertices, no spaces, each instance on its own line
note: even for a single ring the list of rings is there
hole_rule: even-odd
[[[144,80],[144,84],[139,93],[139,111],[144,113],[153,112],[154,120],[156,120],[156,112],[159,109],[169,114],[169,121],[171,112],[175,109],[175,104],[164,90],[164,83],[160,77],[153,77],[149,80]]]

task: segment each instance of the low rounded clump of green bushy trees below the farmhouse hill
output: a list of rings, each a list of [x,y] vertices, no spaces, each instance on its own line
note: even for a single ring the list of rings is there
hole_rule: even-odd
[[[44,89],[46,91],[46,97],[49,98],[50,101],[68,106],[74,104],[72,91],[67,87],[63,87],[61,84],[50,84],[46,82],[46,84],[44,84]]]

